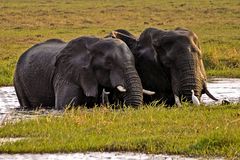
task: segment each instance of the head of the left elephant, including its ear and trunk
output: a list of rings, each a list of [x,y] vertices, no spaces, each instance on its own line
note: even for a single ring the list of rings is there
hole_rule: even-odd
[[[86,97],[99,99],[99,92],[107,89],[122,92],[126,105],[142,104],[135,60],[123,41],[81,37],[70,41],[56,59],[56,72],[80,86]]]

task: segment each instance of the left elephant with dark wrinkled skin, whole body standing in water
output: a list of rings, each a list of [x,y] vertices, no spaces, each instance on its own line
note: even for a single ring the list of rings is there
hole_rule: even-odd
[[[26,109],[101,102],[103,88],[126,88],[126,105],[142,104],[142,85],[134,57],[118,39],[80,37],[68,43],[51,39],[21,55],[14,75],[20,105]]]

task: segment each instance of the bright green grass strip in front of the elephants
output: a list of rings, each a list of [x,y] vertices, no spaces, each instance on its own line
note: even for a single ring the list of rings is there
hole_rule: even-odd
[[[240,158],[240,105],[68,110],[6,124],[0,153],[133,151]]]

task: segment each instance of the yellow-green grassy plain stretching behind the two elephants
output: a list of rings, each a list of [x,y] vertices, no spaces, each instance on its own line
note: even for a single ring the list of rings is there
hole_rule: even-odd
[[[18,57],[35,43],[103,37],[118,28],[136,35],[147,27],[190,28],[199,36],[209,75],[240,77],[239,15],[239,0],[1,0],[0,86],[12,85]],[[223,69],[236,72],[215,71]]]

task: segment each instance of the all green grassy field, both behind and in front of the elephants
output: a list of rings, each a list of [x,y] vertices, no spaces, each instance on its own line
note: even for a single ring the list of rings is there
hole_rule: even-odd
[[[103,37],[114,29],[194,31],[208,76],[240,77],[239,0],[0,0],[0,86],[18,57],[50,38]],[[0,153],[134,151],[240,158],[240,105],[78,109],[0,127]]]

